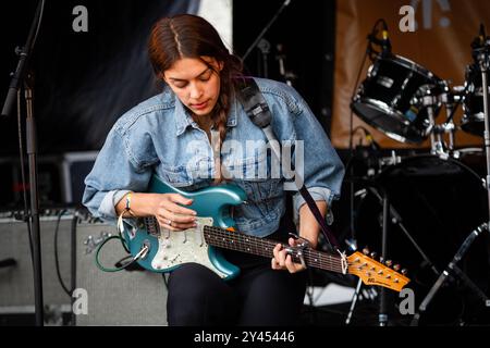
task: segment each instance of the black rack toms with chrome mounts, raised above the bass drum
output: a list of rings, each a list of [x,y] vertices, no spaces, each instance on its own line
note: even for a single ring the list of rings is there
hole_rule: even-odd
[[[352,100],[353,111],[366,123],[388,137],[405,142],[420,144],[431,139],[432,154],[454,150],[458,130],[483,137],[483,88],[481,70],[477,62],[468,65],[465,85],[450,88],[424,66],[391,52],[373,58],[367,78]],[[463,104],[461,125],[453,121],[458,104]],[[445,108],[446,119],[437,124]],[[449,140],[442,139],[449,134]]]

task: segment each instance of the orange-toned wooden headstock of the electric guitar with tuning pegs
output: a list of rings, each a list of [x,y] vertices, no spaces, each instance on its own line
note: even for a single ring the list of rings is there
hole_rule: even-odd
[[[411,281],[397,270],[391,269],[390,264],[378,262],[358,251],[347,257],[347,273],[357,275],[366,285],[378,285],[401,291]]]

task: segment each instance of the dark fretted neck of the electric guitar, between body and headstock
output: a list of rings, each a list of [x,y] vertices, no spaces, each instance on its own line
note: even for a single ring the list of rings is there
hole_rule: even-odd
[[[272,258],[274,247],[278,244],[282,244],[275,240],[249,236],[215,226],[204,226],[204,236],[208,245],[265,258]],[[282,245],[283,247],[287,247],[284,244]],[[294,262],[299,262],[297,254],[294,252],[290,254]],[[303,250],[303,256],[308,266],[343,273],[342,258],[340,256],[332,256],[310,248]]]

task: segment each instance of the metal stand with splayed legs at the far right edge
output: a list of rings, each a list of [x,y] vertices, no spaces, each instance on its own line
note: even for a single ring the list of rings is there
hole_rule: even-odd
[[[489,52],[490,46],[487,42],[483,44],[482,47],[475,49],[474,57],[476,55],[476,60],[479,63],[479,67],[481,71],[481,82],[483,89],[483,113],[485,113],[485,150],[487,154],[487,179],[486,179],[486,188],[487,188],[487,201],[489,203],[489,214],[486,223],[482,223],[477,228],[475,228],[468,237],[463,241],[460,249],[455,253],[454,258],[446,265],[445,270],[440,274],[439,278],[433,284],[432,288],[429,290],[427,296],[421,301],[418,312],[414,314],[411,325],[416,326],[420,320],[420,315],[427,310],[432,298],[436,296],[437,291],[441,288],[441,286],[445,283],[449,277],[452,277],[451,273],[458,276],[460,279],[463,281],[464,285],[467,286],[470,290],[473,290],[485,303],[486,307],[490,307],[490,299],[471,282],[471,279],[456,265],[458,261],[461,261],[466,252],[468,251],[471,244],[475,239],[482,233],[489,232],[490,224],[490,127],[489,127],[489,111],[488,111],[488,80],[487,80],[487,71],[489,69]],[[476,53],[476,54],[475,54]]]

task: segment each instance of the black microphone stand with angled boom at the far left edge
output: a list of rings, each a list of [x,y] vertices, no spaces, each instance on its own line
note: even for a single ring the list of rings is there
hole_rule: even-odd
[[[45,0],[40,0],[37,4],[36,14],[30,25],[29,34],[25,46],[17,50],[19,63],[3,103],[2,116],[9,116],[16,101],[16,96],[21,83],[25,82],[25,99],[26,99],[26,145],[29,165],[29,190],[30,190],[30,216],[29,224],[32,226],[33,239],[33,273],[34,273],[34,302],[35,302],[35,323],[36,326],[44,325],[44,302],[42,302],[42,269],[41,269],[41,249],[40,249],[40,232],[39,232],[39,199],[37,184],[37,139],[36,123],[33,113],[33,90],[32,86],[25,80],[26,67],[30,58],[30,53],[36,41],[37,33],[42,18]],[[24,165],[24,163],[21,163]]]

